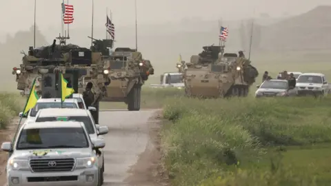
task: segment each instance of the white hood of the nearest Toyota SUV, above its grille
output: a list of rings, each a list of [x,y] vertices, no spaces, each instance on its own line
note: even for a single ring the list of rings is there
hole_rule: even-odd
[[[82,158],[92,156],[90,148],[15,150],[12,158]]]

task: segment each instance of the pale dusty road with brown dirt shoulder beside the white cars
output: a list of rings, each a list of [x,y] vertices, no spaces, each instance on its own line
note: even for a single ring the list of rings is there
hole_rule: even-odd
[[[160,164],[157,110],[100,112],[99,124],[109,127],[103,185],[168,185]],[[161,175],[161,176],[159,176]],[[4,177],[3,175],[1,176]]]

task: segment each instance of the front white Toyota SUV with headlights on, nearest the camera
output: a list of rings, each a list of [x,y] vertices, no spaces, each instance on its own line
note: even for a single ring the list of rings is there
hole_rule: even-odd
[[[9,152],[6,166],[9,186],[101,185],[102,169],[95,151],[103,139],[92,142],[81,122],[43,122],[23,125]]]

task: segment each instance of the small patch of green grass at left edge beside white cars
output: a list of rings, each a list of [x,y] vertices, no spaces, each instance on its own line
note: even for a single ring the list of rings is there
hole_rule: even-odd
[[[5,129],[13,116],[23,110],[24,98],[19,94],[0,93],[0,128]]]

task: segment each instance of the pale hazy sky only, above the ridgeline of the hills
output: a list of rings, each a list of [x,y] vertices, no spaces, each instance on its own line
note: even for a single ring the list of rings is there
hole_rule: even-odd
[[[37,25],[41,30],[59,28],[61,25],[61,0],[37,0]],[[69,0],[74,5],[72,28],[89,27],[92,0]],[[202,19],[241,19],[268,12],[279,17],[284,12],[299,14],[315,6],[331,5],[330,0],[137,0],[139,23],[164,23],[180,21],[185,17]],[[112,10],[115,25],[134,24],[134,0],[94,0],[94,25],[106,22],[106,7]],[[27,30],[33,25],[34,0],[10,0],[1,2],[1,31]]]

